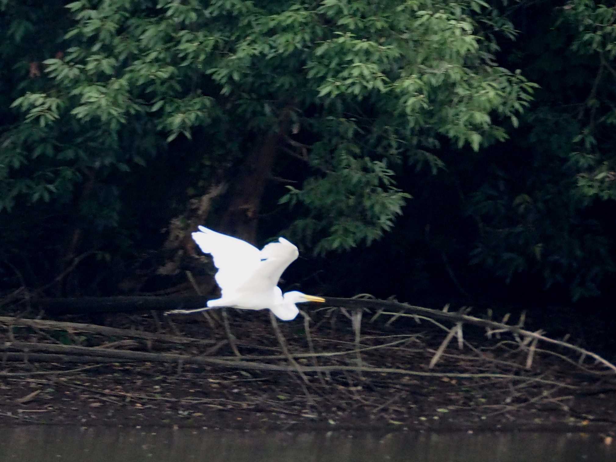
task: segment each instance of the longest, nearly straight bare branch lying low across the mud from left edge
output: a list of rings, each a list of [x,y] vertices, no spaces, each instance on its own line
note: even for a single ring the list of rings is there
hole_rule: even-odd
[[[29,343],[29,342],[6,342],[4,346],[0,347],[0,351],[6,351],[8,348],[22,349],[24,351],[51,351],[61,352],[63,354],[75,354],[75,355],[91,355],[94,361],[99,362],[100,358],[120,358],[131,359],[136,361],[146,362],[166,362],[177,363],[183,362],[185,364],[200,364],[200,365],[218,365],[221,367],[229,367],[236,369],[253,369],[264,371],[297,371],[298,368],[302,372],[316,372],[316,371],[357,371],[359,369],[362,372],[370,373],[389,373],[396,375],[408,375],[419,377],[449,377],[449,378],[493,378],[493,379],[510,379],[514,381],[528,381],[529,383],[544,383],[562,386],[570,389],[578,389],[580,387],[570,384],[557,382],[554,380],[546,380],[541,378],[534,378],[521,375],[510,374],[492,374],[492,373],[452,373],[452,372],[424,372],[424,371],[412,371],[406,369],[395,369],[386,367],[352,367],[352,366],[301,366],[297,364],[296,367],[289,367],[280,364],[267,364],[256,363],[242,360],[222,360],[214,357],[202,357],[202,356],[188,356],[179,354],[164,354],[164,353],[145,353],[141,351],[123,351],[123,350],[108,350],[98,347],[81,347],[70,345],[54,345],[46,343]],[[96,356],[93,356],[96,355]],[[79,359],[79,357],[76,357]],[[104,360],[103,360],[104,361]],[[100,361],[100,362],[103,362]]]

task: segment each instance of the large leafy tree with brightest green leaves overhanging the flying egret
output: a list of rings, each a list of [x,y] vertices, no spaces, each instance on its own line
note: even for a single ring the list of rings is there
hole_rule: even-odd
[[[533,88],[496,62],[514,29],[480,0],[61,3],[42,35],[61,54],[32,48],[30,78],[33,58],[7,57],[22,81],[2,129],[0,213],[48,202],[78,214],[64,259],[131,213],[122,194],[139,166],[183,152],[197,197],[254,185],[249,206],[229,200],[252,225],[274,176],[294,181],[274,188],[298,216],[282,224],[294,237],[317,253],[369,244],[402,213],[407,165],[434,173],[443,143],[505,140],[501,122],[517,126]],[[2,0],[7,43],[36,6]],[[41,12],[28,34],[38,20],[52,23]]]

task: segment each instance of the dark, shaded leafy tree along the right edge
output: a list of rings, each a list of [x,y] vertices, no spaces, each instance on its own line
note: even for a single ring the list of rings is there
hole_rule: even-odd
[[[509,59],[541,90],[521,121],[526,136],[480,170],[468,203],[480,232],[472,262],[567,288],[573,300],[597,296],[616,271],[616,15],[573,1],[529,5],[522,18]]]

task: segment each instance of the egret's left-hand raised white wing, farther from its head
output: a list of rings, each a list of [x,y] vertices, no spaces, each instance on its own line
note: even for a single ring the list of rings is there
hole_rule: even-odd
[[[192,233],[192,238],[204,253],[213,257],[218,268],[214,278],[223,292],[237,290],[259,270],[261,251],[246,241],[203,226]]]

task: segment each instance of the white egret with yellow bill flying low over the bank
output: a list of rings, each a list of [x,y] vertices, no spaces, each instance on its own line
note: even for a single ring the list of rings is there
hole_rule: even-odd
[[[169,313],[194,313],[214,307],[247,310],[270,309],[283,321],[294,319],[299,302],[325,302],[322,297],[298,291],[282,293],[278,279],[299,256],[296,246],[285,238],[267,244],[261,250],[241,239],[200,226],[192,238],[203,253],[214,258],[218,268],[214,278],[221,288],[221,298],[209,300],[208,306],[196,310],[171,310]]]

